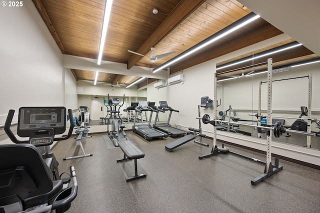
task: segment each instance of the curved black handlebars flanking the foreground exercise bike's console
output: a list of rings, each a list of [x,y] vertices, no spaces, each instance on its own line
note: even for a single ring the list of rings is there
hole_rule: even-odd
[[[4,131],[8,135],[8,137],[11,139],[11,141],[14,143],[29,143],[29,140],[17,139],[10,129],[12,118],[14,115],[14,111],[15,111],[14,109],[9,110],[8,115],[6,117],[6,120],[5,120],[5,124],[4,124]],[[73,127],[74,127],[72,109],[68,109],[68,114],[69,114],[69,120],[70,120],[70,128],[69,128],[68,134],[64,137],[54,137],[53,140],[65,140],[71,136],[72,131],[73,131]]]

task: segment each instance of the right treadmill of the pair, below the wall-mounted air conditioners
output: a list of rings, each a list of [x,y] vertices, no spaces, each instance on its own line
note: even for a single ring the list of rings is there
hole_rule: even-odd
[[[187,131],[183,131],[179,128],[172,127],[169,123],[172,111],[179,112],[179,110],[173,109],[170,106],[168,106],[166,101],[159,101],[159,104],[160,104],[160,106],[158,106],[158,109],[160,109],[160,110],[158,110],[156,112],[156,116],[155,116],[154,123],[153,123],[153,128],[156,128],[160,131],[167,133],[170,137],[178,137],[178,136],[183,136],[185,134],[189,134],[189,132],[187,132]],[[162,112],[170,111],[169,117],[168,117],[166,123],[156,123],[156,121],[158,119],[159,111],[162,111]]]

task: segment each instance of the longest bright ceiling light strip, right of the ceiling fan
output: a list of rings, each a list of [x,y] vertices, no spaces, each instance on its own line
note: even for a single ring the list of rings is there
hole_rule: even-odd
[[[224,31],[224,30],[222,29],[222,30],[220,31],[220,32],[222,32],[222,33],[217,32],[216,34],[210,36],[209,39],[205,39],[205,40],[201,41],[200,43],[198,43],[198,45],[189,48],[188,50],[184,51],[184,52],[181,53],[180,55],[177,55],[175,58],[172,58],[171,60],[168,60],[167,62],[163,63],[162,65],[154,68],[154,69],[152,70],[152,72],[157,72],[157,71],[159,71],[159,70],[161,70],[161,69],[163,69],[163,68],[168,67],[168,66],[171,65],[172,63],[174,63],[174,62],[176,62],[176,61],[178,61],[178,60],[181,60],[182,58],[184,58],[184,57],[192,54],[193,52],[195,52],[195,51],[203,48],[204,46],[209,45],[210,43],[212,43],[212,42],[214,42],[214,41],[216,41],[216,40],[224,37],[225,35],[230,34],[231,32],[233,32],[233,31],[241,28],[242,26],[244,26],[244,25],[246,25],[246,24],[248,24],[248,23],[252,22],[253,20],[255,20],[255,19],[257,19],[257,18],[260,17],[259,15],[255,15],[253,12],[250,13],[250,14],[248,14],[247,16],[250,17],[250,16],[252,16],[252,15],[254,15],[254,16],[251,17],[251,18],[249,18],[249,19],[247,19],[247,20],[245,20],[245,21],[243,21],[243,22],[241,22],[240,24],[235,25],[234,27],[232,27],[232,28],[230,28],[230,29],[227,29],[228,27],[224,28],[224,30],[226,30],[226,31]],[[247,16],[244,16],[244,18],[247,18]],[[224,32],[223,32],[223,31],[224,31]],[[202,42],[203,42],[203,43],[202,43]],[[201,44],[201,43],[202,43],[202,44]]]

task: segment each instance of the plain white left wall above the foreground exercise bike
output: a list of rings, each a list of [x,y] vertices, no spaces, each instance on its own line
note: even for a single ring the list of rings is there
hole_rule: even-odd
[[[9,109],[17,121],[20,106],[64,105],[62,54],[32,1],[0,7],[0,26],[0,124]]]

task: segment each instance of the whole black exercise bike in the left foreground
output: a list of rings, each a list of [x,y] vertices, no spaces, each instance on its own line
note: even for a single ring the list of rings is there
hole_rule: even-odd
[[[75,170],[70,166],[69,177],[59,179],[59,163],[50,145],[72,134],[72,110],[68,110],[70,128],[64,137],[55,137],[66,129],[64,107],[20,107],[17,135],[28,140],[17,139],[11,131],[13,115],[10,109],[4,130],[16,144],[0,145],[0,212],[66,211],[77,194]],[[42,156],[37,146],[44,146]]]

